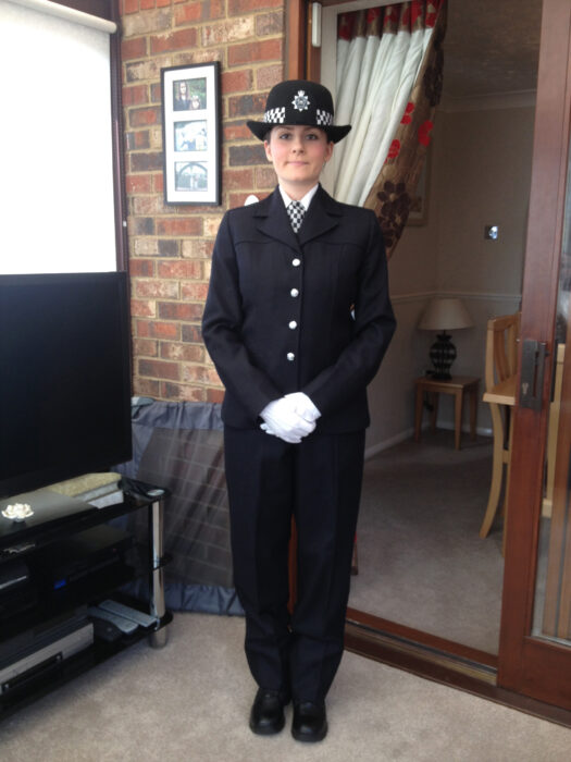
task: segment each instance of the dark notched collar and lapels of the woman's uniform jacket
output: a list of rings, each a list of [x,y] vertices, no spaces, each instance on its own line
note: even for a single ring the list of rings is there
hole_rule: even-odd
[[[262,233],[295,249],[335,228],[340,216],[340,205],[321,185],[309,205],[297,236],[291,230],[280,188],[276,187],[268,198],[260,201],[253,212],[258,229]]]

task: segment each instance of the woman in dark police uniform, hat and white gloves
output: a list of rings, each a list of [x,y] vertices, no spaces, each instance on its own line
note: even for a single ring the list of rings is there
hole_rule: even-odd
[[[288,81],[249,121],[277,175],[258,204],[224,216],[203,337],[222,405],[234,581],[258,692],[250,728],[320,741],[343,654],[359,508],[367,385],[395,330],[381,230],[335,201],[320,173],[350,126],[330,91]],[[288,542],[297,527],[297,600]]]

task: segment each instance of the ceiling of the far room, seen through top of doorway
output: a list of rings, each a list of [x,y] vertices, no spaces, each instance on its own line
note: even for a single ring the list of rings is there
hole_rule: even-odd
[[[444,94],[535,90],[542,0],[448,0]]]

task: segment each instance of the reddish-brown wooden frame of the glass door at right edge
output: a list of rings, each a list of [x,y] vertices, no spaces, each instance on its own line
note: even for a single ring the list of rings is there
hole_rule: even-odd
[[[568,0],[544,0],[543,9],[521,339],[522,342],[525,339],[545,342],[549,355],[541,411],[517,405],[513,416],[509,486],[509,504],[513,509],[509,515],[506,544],[498,683],[571,709],[571,679],[567,683],[562,679],[569,675],[570,649],[530,635],[571,109],[571,5]]]

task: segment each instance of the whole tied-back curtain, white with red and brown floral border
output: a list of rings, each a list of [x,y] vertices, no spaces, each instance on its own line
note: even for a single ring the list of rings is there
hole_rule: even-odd
[[[334,195],[375,211],[387,256],[413,207],[431,142],[445,29],[446,0],[339,15],[336,121],[353,128],[336,148]]]

